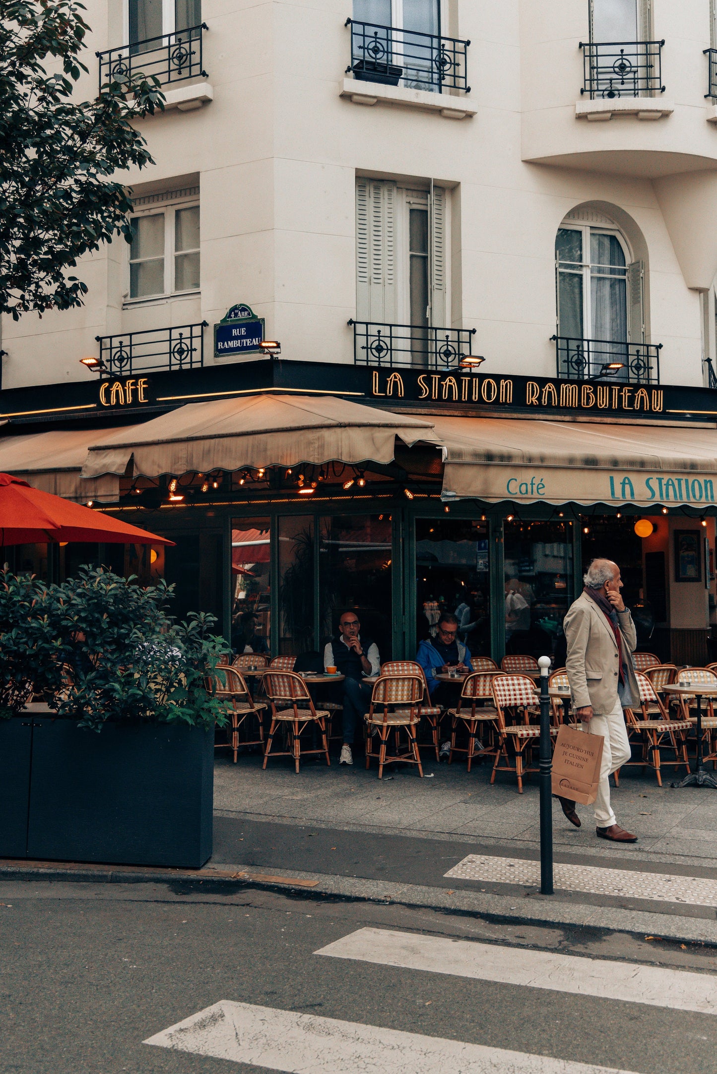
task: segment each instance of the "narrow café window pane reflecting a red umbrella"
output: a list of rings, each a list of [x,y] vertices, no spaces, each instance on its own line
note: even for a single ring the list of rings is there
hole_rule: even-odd
[[[270,561],[269,519],[234,519],[231,524],[231,647],[235,653],[269,652]]]

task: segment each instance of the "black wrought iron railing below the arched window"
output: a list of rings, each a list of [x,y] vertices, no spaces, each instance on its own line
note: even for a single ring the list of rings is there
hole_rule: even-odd
[[[611,380],[659,384],[662,344],[612,343],[605,339],[555,339],[558,377],[562,380]]]

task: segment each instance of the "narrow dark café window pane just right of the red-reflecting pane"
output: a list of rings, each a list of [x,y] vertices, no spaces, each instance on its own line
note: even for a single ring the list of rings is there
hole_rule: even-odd
[[[279,655],[314,652],[314,519],[278,520]]]

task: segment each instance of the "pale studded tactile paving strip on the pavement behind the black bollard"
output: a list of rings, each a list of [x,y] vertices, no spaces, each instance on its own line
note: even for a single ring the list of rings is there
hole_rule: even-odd
[[[493,884],[524,884],[527,887],[534,887],[541,882],[541,863],[521,858],[469,854],[444,875],[453,880],[477,880]],[[717,880],[705,880],[700,876],[673,876],[670,873],[556,863],[554,881],[556,887],[565,891],[588,891],[591,895],[625,896],[631,899],[657,899],[660,902],[685,902],[692,906],[717,906]]]

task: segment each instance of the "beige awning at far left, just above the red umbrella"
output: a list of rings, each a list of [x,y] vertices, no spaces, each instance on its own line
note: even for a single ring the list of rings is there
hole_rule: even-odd
[[[0,439],[0,473],[20,477],[33,489],[42,489],[66,499],[115,500],[119,495],[118,477],[86,480],[80,475],[89,445],[98,436],[117,432],[117,429],[73,429],[4,436]],[[121,432],[127,433],[128,430]]]

